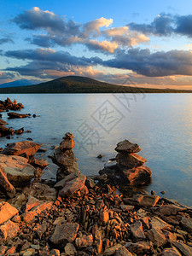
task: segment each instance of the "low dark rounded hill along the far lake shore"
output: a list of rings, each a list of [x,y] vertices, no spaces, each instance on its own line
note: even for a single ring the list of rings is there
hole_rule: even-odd
[[[0,88],[0,93],[161,93],[192,92],[192,90],[149,89],[108,84],[79,76],[67,76],[35,85]]]

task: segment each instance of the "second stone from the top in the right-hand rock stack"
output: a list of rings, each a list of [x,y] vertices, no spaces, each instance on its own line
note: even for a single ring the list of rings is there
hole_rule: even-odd
[[[116,156],[116,160],[119,165],[128,167],[129,169],[143,166],[143,164],[147,161],[142,156],[135,153],[119,153]]]

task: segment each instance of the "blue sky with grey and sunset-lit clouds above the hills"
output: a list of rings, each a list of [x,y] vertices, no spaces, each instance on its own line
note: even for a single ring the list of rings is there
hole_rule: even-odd
[[[191,1],[1,0],[0,58],[0,84],[77,75],[192,90]]]

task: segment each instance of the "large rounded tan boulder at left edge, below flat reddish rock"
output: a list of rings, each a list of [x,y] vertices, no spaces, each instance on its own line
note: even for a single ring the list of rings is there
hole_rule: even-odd
[[[17,155],[0,154],[0,166],[14,186],[23,186],[34,177],[35,168],[27,163],[26,158]]]

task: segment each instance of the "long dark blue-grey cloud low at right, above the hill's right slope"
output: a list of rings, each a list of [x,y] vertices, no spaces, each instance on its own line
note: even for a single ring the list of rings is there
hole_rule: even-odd
[[[119,51],[115,58],[103,61],[108,67],[128,69],[148,77],[192,75],[192,52],[170,50],[151,53],[149,49]]]

